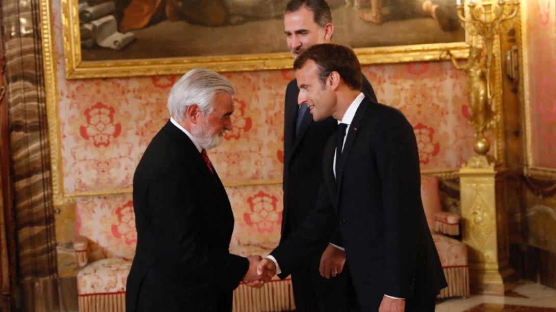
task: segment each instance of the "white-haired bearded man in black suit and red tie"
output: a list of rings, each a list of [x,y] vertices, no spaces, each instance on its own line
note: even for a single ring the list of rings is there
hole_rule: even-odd
[[[207,69],[193,69],[172,87],[172,118],[133,177],[137,250],[128,312],[229,312],[232,290],[259,278],[259,256],[229,253],[234,215],[206,154],[232,129],[233,95],[229,80]]]

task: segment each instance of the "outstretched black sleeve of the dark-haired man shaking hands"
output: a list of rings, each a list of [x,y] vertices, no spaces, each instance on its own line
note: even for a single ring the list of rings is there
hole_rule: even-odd
[[[299,228],[271,253],[282,270],[279,277],[281,279],[286,278],[306,256],[314,253],[316,248],[321,247],[322,242],[329,239],[336,230],[337,224],[336,212],[332,206],[326,184],[322,182],[317,208],[307,215]]]

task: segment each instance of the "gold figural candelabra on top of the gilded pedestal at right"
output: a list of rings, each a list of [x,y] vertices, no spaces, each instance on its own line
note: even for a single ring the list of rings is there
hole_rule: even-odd
[[[469,122],[475,128],[474,150],[480,155],[485,155],[490,149],[490,142],[484,137],[484,132],[492,128],[498,119],[490,81],[494,38],[500,31],[501,23],[517,15],[519,1],[483,1],[478,4],[475,0],[470,0],[468,6],[469,17],[466,17],[464,4],[457,0],[456,8],[461,26],[465,28],[468,24],[470,34],[480,36],[484,44],[471,46],[465,65],[460,65],[450,51],[445,53],[456,68],[466,73],[472,114]]]

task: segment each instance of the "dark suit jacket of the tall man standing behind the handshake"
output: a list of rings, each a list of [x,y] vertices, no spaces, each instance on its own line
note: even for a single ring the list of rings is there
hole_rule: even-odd
[[[376,95],[369,81],[363,76],[363,93],[376,102]],[[335,132],[337,121],[330,117],[315,122],[306,112],[295,135],[297,119],[297,79],[286,89],[284,108],[284,212],[282,217],[282,240],[305,220],[315,209],[319,186],[322,180],[322,151],[330,136]],[[335,243],[340,242],[337,239]],[[320,259],[320,255],[319,255]]]

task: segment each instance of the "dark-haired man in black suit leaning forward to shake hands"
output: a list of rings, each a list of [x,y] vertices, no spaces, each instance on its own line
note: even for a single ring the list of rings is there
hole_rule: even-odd
[[[315,121],[339,122],[326,143],[324,182],[314,210],[262,260],[259,273],[284,278],[339,228],[350,311],[434,311],[446,286],[420,197],[413,127],[397,109],[361,93],[355,53],[318,44],[294,63]]]

